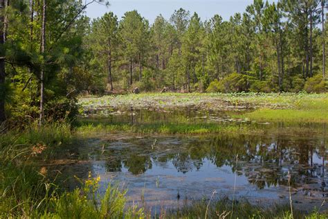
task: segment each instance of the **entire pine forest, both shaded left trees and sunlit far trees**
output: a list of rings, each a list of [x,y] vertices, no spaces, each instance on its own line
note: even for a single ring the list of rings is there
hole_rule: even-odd
[[[254,0],[228,21],[180,8],[154,24],[136,10],[91,20],[91,3],[0,0],[0,121],[70,117],[78,94],[134,87],[327,91],[325,0]]]

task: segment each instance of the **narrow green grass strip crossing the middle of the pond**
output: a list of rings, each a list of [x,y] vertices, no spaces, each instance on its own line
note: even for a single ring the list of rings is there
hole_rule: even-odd
[[[314,128],[313,128],[314,127]],[[326,134],[325,123],[103,123],[102,121],[80,121],[74,130],[77,137],[98,134],[158,134],[158,135],[197,135],[227,134],[229,136],[253,134],[289,134],[322,136]]]

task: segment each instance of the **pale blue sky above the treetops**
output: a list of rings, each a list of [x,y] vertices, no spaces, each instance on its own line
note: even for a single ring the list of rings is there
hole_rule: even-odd
[[[270,0],[273,2],[275,0]],[[246,6],[253,0],[109,0],[109,7],[93,3],[86,9],[86,15],[91,18],[101,17],[105,12],[112,11],[119,19],[129,10],[138,12],[153,23],[159,15],[169,19],[174,10],[184,8],[197,12],[201,19],[210,19],[213,15],[221,15],[229,19],[235,12],[244,12]]]

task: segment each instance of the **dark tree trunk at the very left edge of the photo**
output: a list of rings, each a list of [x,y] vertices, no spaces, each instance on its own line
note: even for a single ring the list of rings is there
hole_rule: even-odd
[[[0,25],[1,25],[1,33],[0,33],[0,45],[2,46],[5,42],[6,37],[6,25],[5,25],[5,13],[6,4],[4,0],[0,0]],[[0,54],[0,122],[6,120],[5,115],[5,81],[6,81],[6,69],[5,69],[5,58],[3,53]]]

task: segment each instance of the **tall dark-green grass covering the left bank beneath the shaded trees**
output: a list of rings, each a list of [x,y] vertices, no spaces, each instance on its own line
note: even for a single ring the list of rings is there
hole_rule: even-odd
[[[31,125],[0,135],[0,216],[19,217],[46,207],[55,186],[33,165],[45,150],[71,139],[69,125]]]

